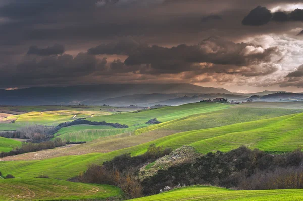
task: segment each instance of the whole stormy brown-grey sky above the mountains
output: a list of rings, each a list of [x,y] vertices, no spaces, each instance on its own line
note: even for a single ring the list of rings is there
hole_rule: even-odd
[[[303,3],[0,0],[0,88],[191,83],[303,92]]]

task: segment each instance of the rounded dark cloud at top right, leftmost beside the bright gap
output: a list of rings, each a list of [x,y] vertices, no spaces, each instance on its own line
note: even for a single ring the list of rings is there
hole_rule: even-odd
[[[258,6],[242,20],[243,25],[261,26],[267,24],[272,18],[270,10],[266,7]]]

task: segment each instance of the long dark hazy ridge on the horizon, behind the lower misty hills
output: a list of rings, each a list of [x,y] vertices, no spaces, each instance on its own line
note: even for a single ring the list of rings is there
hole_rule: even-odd
[[[0,90],[0,105],[87,104],[96,101],[135,95],[171,93],[228,93],[226,89],[201,87],[192,84],[103,84],[69,87],[31,87],[18,90]],[[173,98],[173,97],[168,97]],[[159,100],[157,100],[159,101]]]

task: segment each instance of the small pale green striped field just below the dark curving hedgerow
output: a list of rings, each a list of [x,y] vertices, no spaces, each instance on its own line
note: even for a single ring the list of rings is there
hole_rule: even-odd
[[[125,129],[116,129],[112,126],[74,125],[60,129],[56,137],[73,142],[92,141],[101,137],[117,135],[125,132],[133,132],[147,125],[132,126]],[[57,136],[58,135],[58,136]]]

